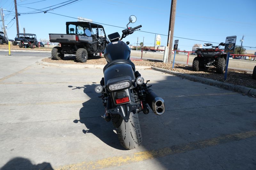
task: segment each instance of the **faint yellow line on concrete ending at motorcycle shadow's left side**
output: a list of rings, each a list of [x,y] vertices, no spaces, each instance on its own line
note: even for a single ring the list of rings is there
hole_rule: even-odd
[[[26,105],[52,105],[52,104],[74,104],[74,103],[84,103],[88,100],[71,100],[71,101],[52,101],[52,102],[36,102],[36,103],[7,103],[1,104],[0,106],[26,106]]]

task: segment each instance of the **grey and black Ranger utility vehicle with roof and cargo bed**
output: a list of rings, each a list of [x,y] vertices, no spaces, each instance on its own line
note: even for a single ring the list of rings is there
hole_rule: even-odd
[[[104,35],[100,35],[103,33]],[[103,26],[91,22],[66,22],[66,34],[49,34],[50,42],[60,43],[52,48],[52,59],[61,60],[65,54],[75,54],[76,61],[85,63],[88,56],[102,52],[107,37]],[[91,42],[97,41],[97,43]]]

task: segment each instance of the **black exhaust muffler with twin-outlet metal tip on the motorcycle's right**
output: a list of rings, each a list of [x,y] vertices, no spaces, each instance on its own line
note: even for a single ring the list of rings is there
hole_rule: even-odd
[[[164,113],[164,100],[161,97],[157,96],[153,90],[148,89],[146,91],[146,100],[149,107],[156,115],[162,115]]]

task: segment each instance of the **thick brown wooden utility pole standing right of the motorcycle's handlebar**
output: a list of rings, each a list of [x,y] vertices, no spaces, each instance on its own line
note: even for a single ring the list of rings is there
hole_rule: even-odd
[[[171,59],[172,59],[172,40],[173,40],[173,33],[174,33],[176,4],[177,4],[177,0],[172,0],[171,11],[170,11],[170,21],[169,21],[168,41],[167,41],[167,47],[169,48],[169,54],[168,54],[166,63],[171,63]]]

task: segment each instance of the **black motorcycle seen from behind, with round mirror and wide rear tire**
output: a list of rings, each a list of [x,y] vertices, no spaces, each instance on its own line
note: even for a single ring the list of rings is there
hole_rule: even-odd
[[[127,29],[122,31],[121,38],[116,32],[108,35],[110,42],[102,42],[107,44],[104,57],[108,63],[103,68],[104,77],[100,85],[95,86],[95,91],[101,93],[105,107],[102,117],[106,122],[112,120],[118,140],[126,149],[137,148],[142,143],[139,112],[148,114],[148,105],[156,115],[162,115],[165,111],[164,100],[149,89],[152,86],[147,85],[149,80],[144,83],[144,78],[135,70],[135,65],[130,60],[129,41],[121,41],[127,35],[140,30],[141,25],[128,27],[135,21],[136,17],[130,16]]]

